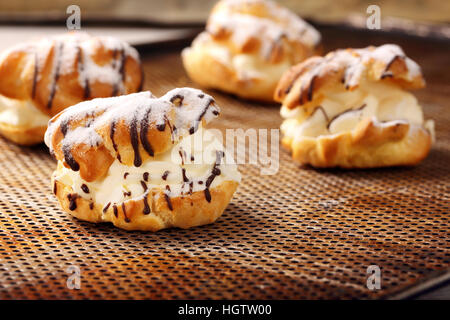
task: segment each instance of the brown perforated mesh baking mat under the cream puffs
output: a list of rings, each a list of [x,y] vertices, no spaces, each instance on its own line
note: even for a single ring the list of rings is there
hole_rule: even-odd
[[[195,87],[178,53],[145,61],[154,94]],[[279,127],[278,106],[208,92],[222,109],[213,127]],[[437,142],[417,167],[315,170],[280,150],[276,175],[240,166],[243,181],[216,223],[157,233],[72,218],[51,192],[46,148],[0,139],[0,298],[374,299],[441,277],[450,262],[450,114],[424,109]],[[380,290],[367,288],[370,265],[381,269]],[[70,266],[79,290],[67,288]]]

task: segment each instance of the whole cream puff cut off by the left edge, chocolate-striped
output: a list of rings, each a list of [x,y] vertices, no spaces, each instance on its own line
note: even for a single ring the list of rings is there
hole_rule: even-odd
[[[41,143],[61,110],[139,91],[142,81],[138,52],[112,37],[73,32],[16,45],[0,56],[0,134]]]

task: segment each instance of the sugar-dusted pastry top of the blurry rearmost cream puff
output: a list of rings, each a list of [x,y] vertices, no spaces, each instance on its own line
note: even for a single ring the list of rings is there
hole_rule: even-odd
[[[210,40],[226,44],[233,54],[258,52],[276,63],[286,54],[295,58],[295,50],[287,50],[286,43],[301,47],[300,51],[314,51],[320,43],[320,34],[275,2],[222,0],[213,8],[206,32],[196,42]]]

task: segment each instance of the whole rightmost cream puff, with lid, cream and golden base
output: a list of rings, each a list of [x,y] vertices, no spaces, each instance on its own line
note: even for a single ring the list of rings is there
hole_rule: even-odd
[[[312,57],[276,89],[282,144],[314,167],[415,165],[430,151],[434,123],[407,90],[424,86],[420,67],[397,45]]]

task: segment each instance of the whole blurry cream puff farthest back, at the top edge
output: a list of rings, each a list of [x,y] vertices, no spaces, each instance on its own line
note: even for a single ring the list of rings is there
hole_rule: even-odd
[[[271,102],[283,73],[317,54],[319,44],[317,30],[275,2],[222,0],[182,58],[204,87]]]

